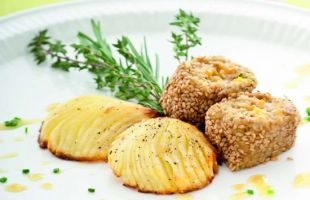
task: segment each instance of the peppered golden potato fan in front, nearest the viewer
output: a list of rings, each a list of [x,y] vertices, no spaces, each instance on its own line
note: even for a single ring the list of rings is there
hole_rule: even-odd
[[[125,130],[112,143],[108,162],[124,185],[158,194],[202,188],[218,170],[204,135],[172,118],[145,120]]]

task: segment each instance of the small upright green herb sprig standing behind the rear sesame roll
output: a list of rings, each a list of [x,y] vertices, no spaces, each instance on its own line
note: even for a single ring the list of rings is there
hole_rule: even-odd
[[[175,21],[170,25],[178,27],[179,33],[172,32],[170,41],[173,44],[175,58],[181,62],[182,58],[189,59],[189,49],[201,45],[201,37],[197,35],[200,19],[192,13],[180,9],[175,16]]]

